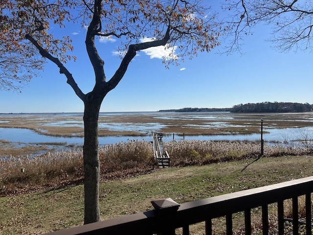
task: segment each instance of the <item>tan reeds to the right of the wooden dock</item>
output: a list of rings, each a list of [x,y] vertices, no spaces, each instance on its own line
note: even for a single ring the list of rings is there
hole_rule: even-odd
[[[210,164],[260,156],[260,143],[251,141],[171,141],[163,144],[171,165]],[[281,145],[264,145],[265,156],[312,154],[312,149]]]

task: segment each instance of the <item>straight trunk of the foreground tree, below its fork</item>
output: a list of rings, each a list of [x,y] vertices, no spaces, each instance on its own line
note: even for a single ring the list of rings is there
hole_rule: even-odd
[[[100,221],[99,179],[100,161],[98,153],[98,117],[101,102],[92,100],[85,102],[84,111],[84,191],[85,218],[84,224]]]

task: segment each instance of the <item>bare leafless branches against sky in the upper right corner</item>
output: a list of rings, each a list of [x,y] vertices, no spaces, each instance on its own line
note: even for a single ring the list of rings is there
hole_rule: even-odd
[[[269,39],[280,51],[312,51],[313,1],[310,0],[226,0],[229,33],[235,40],[228,51],[238,50],[243,35],[256,24],[273,27]]]

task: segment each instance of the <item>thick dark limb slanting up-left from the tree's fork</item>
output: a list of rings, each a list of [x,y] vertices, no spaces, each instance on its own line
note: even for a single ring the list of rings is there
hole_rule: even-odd
[[[74,90],[74,92],[77,94],[77,96],[84,101],[85,99],[85,94],[83,94],[83,92],[79,89],[78,85],[76,84],[72,74],[67,70],[67,68],[61,63],[61,61],[52,56],[49,52],[47,52],[43,47],[41,47],[38,42],[30,35],[30,34],[26,34],[25,38],[27,40],[29,40],[38,50],[39,53],[47,58],[48,60],[52,61],[54,64],[56,64],[59,69],[60,69],[60,73],[63,73],[66,77],[67,77],[67,83],[72,87],[72,89]]]

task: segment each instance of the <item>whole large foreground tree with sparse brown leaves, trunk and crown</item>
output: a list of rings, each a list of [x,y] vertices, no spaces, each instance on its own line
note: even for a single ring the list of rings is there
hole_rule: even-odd
[[[185,56],[192,58],[197,51],[219,46],[218,37],[224,29],[201,0],[2,0],[0,6],[0,27],[5,29],[0,32],[1,38],[9,38],[20,48],[16,54],[22,58],[36,61],[35,56],[41,56],[57,65],[84,102],[84,223],[99,221],[98,116],[104,97],[121,81],[138,51],[163,46],[169,51],[163,60],[168,66]],[[94,80],[94,87],[87,94],[65,66],[68,59],[75,59],[67,53],[73,50],[70,38],[55,38],[49,30],[50,24],[65,27],[65,22],[73,21],[88,25],[85,45],[94,69],[88,79]],[[109,80],[95,45],[98,37],[113,37],[121,42],[121,63]],[[9,43],[3,47],[12,52]],[[177,55],[173,48],[179,50]],[[13,60],[11,66],[15,66]]]

